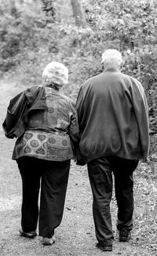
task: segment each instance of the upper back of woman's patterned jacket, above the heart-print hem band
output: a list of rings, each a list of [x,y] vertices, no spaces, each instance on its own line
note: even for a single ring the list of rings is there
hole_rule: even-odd
[[[75,112],[71,101],[53,88],[46,87],[45,90],[47,110],[30,112],[27,130],[45,130],[66,135],[71,116]]]

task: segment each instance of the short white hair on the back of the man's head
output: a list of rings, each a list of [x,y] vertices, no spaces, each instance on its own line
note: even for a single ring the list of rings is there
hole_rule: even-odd
[[[107,49],[102,54],[102,63],[105,66],[119,66],[122,64],[122,54],[117,49]]]

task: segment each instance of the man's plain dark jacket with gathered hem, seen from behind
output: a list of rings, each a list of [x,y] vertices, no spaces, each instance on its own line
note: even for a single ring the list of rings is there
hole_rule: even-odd
[[[85,163],[105,156],[145,159],[148,156],[148,106],[137,79],[108,69],[88,79],[76,104]]]

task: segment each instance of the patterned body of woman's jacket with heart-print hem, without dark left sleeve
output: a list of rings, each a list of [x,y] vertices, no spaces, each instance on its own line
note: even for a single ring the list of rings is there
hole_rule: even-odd
[[[71,144],[77,142],[79,126],[75,107],[66,97],[46,87],[47,110],[28,116],[27,130],[17,139],[13,159],[33,156],[51,161],[73,159]]]

